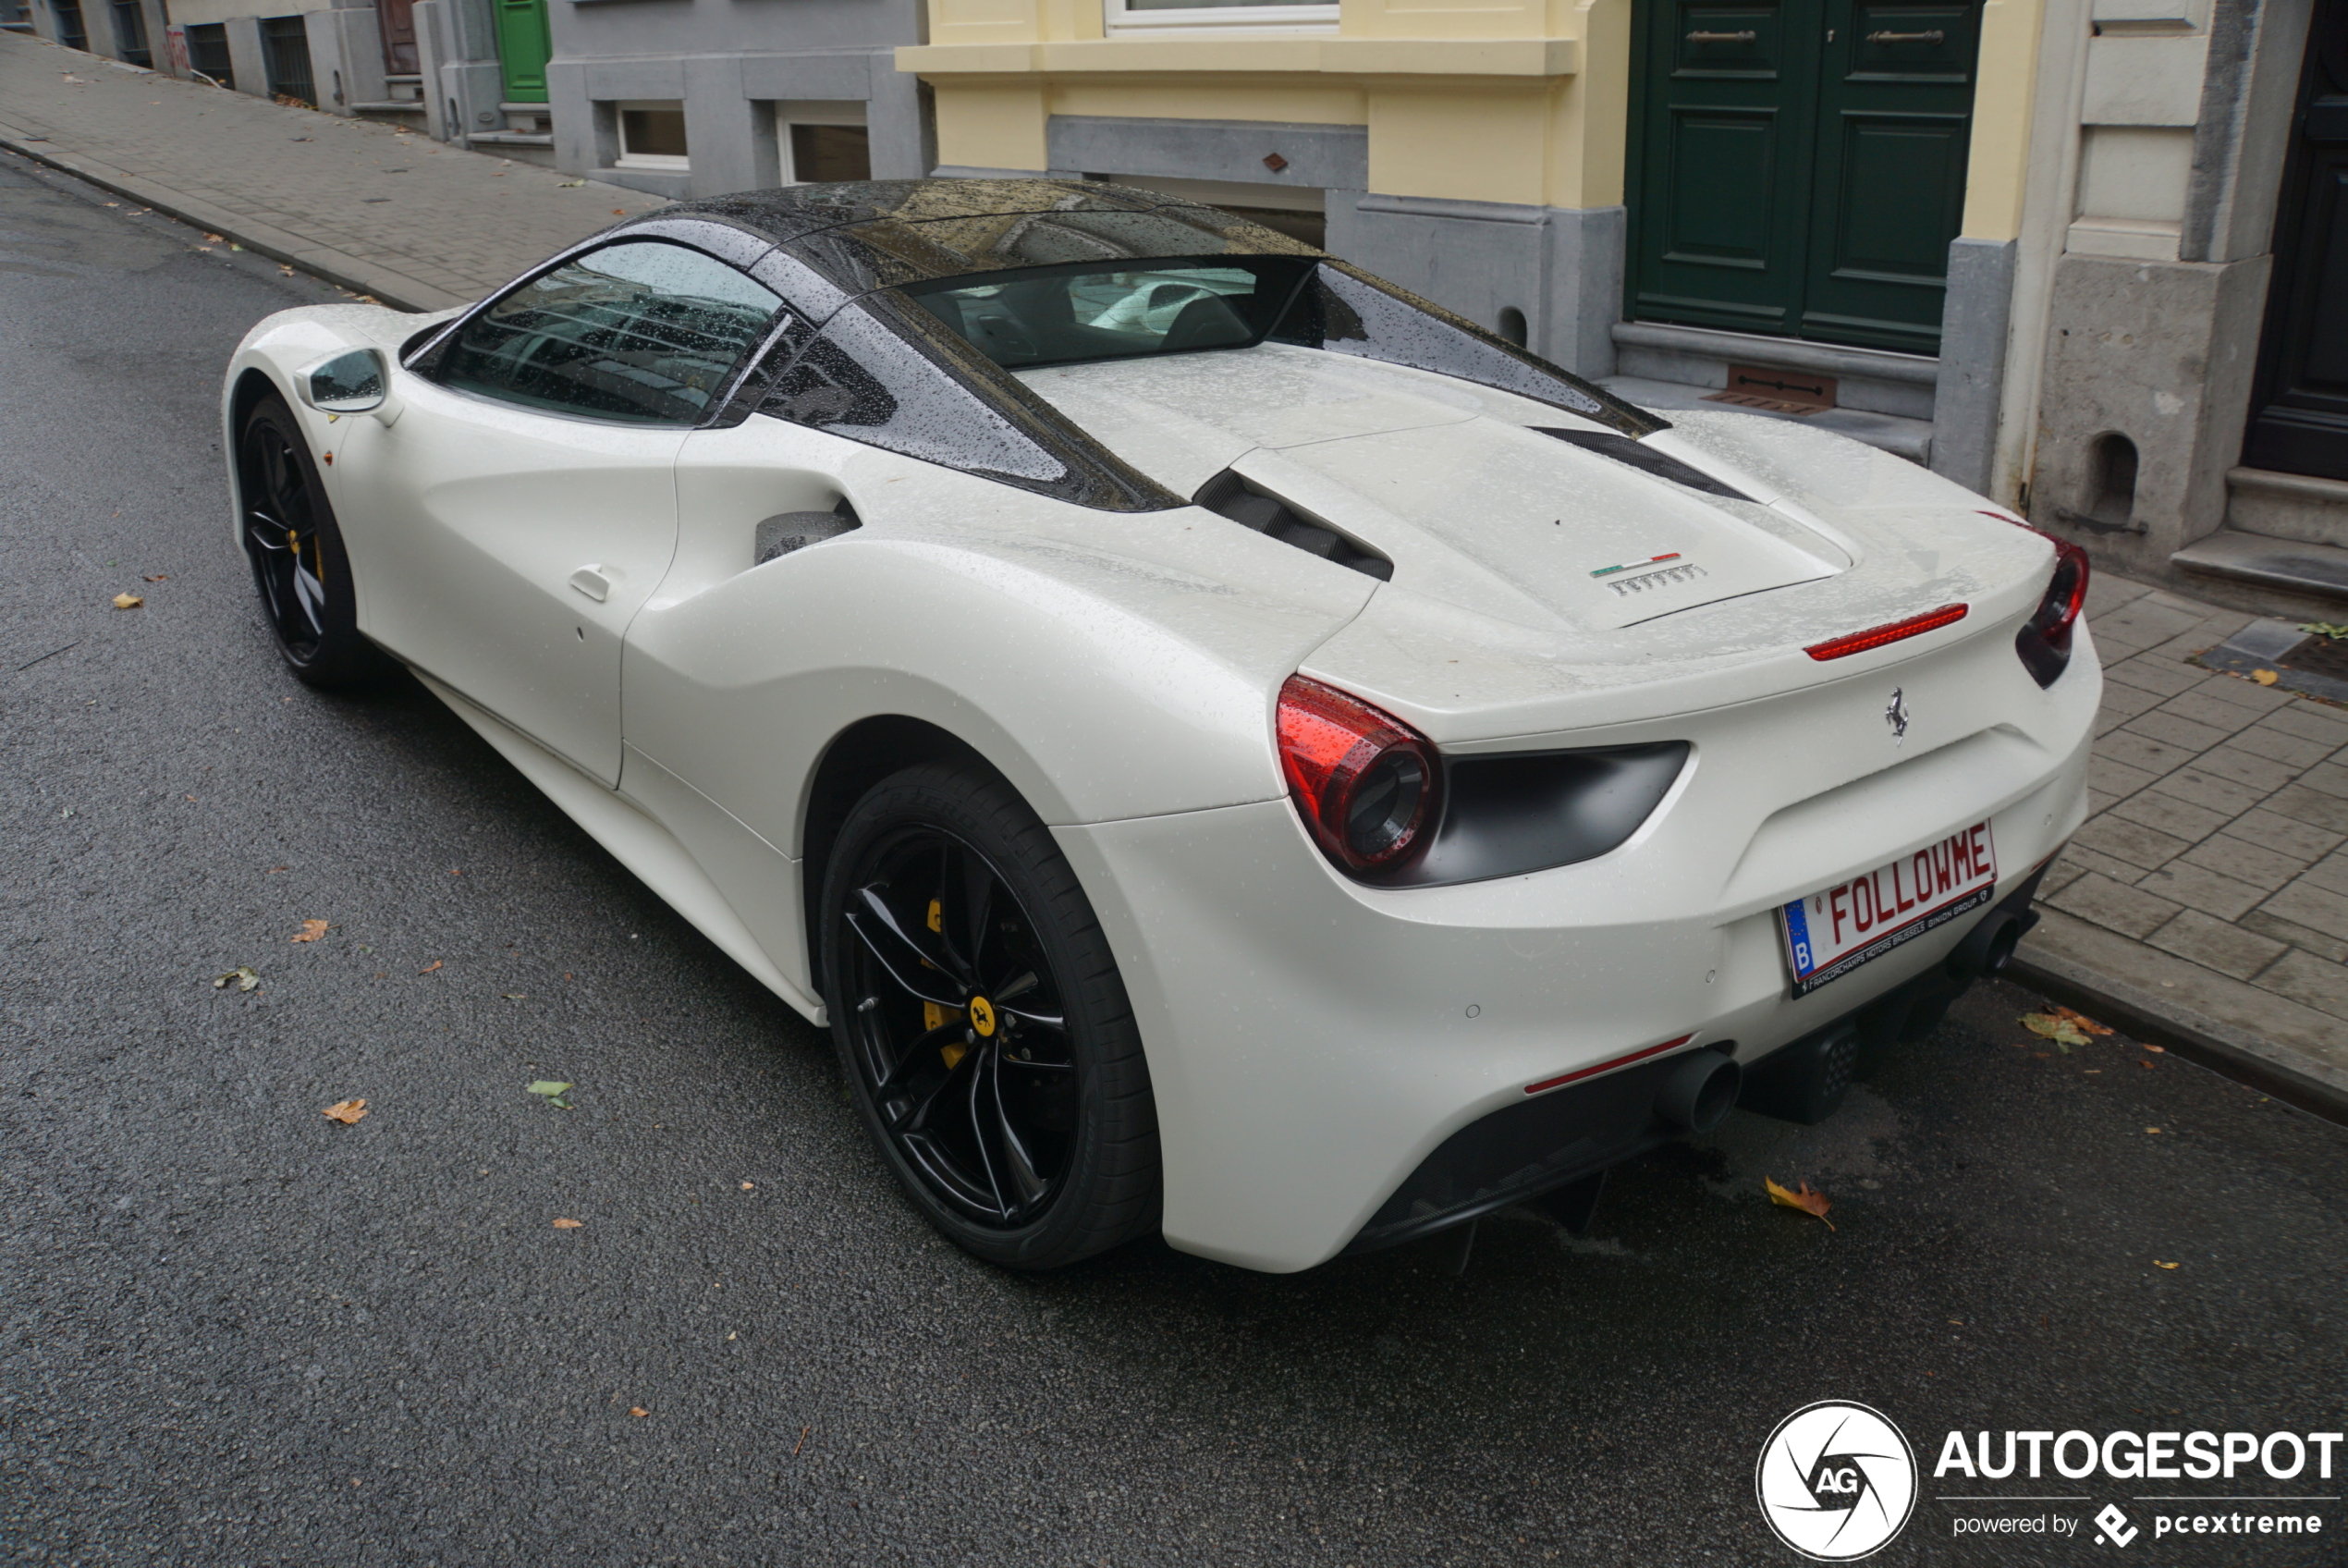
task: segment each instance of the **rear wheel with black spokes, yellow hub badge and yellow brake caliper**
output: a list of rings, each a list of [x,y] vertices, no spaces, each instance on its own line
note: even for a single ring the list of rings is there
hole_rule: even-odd
[[[1026,800],[974,763],[883,779],[841,826],[822,911],[857,1113],[932,1225],[1019,1270],[1158,1228],[1141,1033]]]

